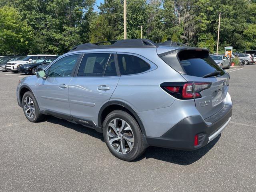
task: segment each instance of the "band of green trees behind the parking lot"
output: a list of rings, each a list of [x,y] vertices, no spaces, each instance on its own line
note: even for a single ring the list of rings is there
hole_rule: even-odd
[[[0,54],[63,54],[86,42],[123,39],[123,0],[0,0]],[[127,0],[127,37],[173,40],[219,53],[256,49],[255,0]],[[106,43],[108,44],[108,43]]]

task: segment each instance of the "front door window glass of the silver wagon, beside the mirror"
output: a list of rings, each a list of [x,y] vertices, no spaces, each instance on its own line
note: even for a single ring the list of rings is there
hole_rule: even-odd
[[[66,56],[55,62],[48,71],[48,77],[71,77],[79,54]]]

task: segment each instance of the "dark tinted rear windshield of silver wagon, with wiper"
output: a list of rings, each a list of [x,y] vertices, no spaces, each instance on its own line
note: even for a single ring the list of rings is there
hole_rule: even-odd
[[[212,60],[208,51],[185,50],[178,53],[180,64],[186,74],[203,77],[207,74],[220,71],[220,76],[225,72]]]

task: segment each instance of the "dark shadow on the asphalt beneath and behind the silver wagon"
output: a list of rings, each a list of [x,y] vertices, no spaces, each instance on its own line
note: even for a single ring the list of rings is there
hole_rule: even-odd
[[[48,116],[45,119],[45,121],[65,126],[66,128],[76,130],[80,133],[88,134],[104,142],[103,135],[101,133],[96,132],[96,130],[94,129],[84,127],[80,124],[74,124],[66,120],[55,118],[53,116]],[[144,158],[146,159],[154,158],[157,160],[179,164],[179,165],[190,165],[198,161],[200,158],[202,158],[202,156],[204,156],[208,151],[210,151],[210,149],[216,144],[216,142],[218,142],[218,140],[220,139],[220,136],[221,134],[218,135],[214,140],[212,140],[206,146],[194,151],[172,150],[168,148],[150,146],[146,149],[145,153],[138,159],[134,160],[134,162],[140,161]]]

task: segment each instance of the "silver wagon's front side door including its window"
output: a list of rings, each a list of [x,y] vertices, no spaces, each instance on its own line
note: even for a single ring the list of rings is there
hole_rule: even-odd
[[[80,54],[74,54],[57,60],[47,69],[46,79],[38,79],[37,96],[41,110],[70,116],[68,85],[79,56]]]

